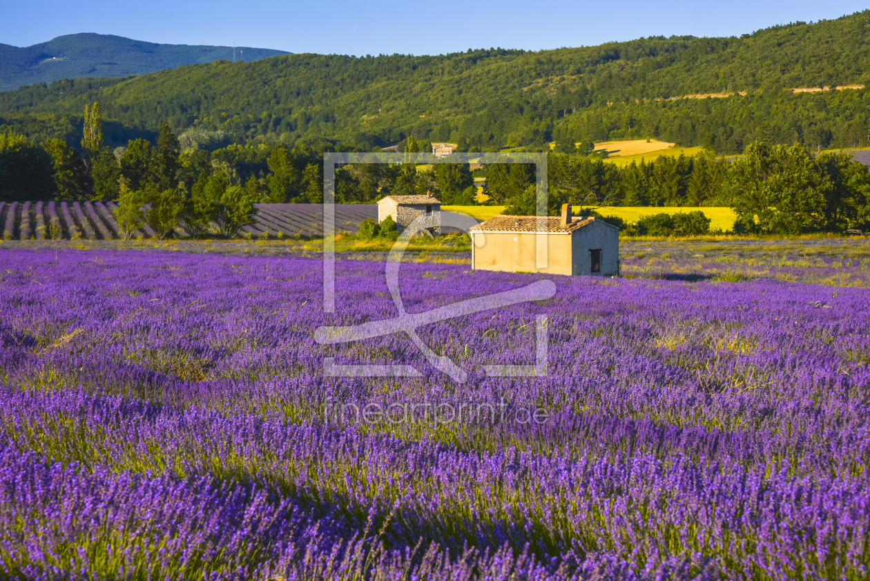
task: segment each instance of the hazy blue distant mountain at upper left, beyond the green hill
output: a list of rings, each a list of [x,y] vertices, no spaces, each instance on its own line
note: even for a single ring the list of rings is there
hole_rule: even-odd
[[[235,50],[236,58],[244,57],[246,61],[288,54],[246,46]],[[231,46],[154,44],[92,33],[69,34],[23,48],[0,44],[0,91],[60,78],[143,75],[232,57]]]

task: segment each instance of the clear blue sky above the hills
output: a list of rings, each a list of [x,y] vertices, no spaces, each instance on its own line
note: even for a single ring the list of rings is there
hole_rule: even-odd
[[[237,44],[291,52],[441,54],[501,46],[536,51],[673,34],[731,36],[836,18],[861,2],[7,2],[0,43],[28,46],[74,32],[156,43]]]

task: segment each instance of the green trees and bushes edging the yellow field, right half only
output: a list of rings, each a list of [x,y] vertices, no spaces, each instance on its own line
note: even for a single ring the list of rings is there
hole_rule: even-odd
[[[559,215],[564,203],[589,215],[601,206],[729,206],[734,233],[800,234],[870,230],[870,170],[847,152],[813,154],[800,144],[754,142],[733,162],[699,156],[659,158],[621,169],[601,161],[553,153],[547,164],[547,206],[538,206],[534,166],[492,166],[488,189],[505,214]],[[677,223],[667,214],[637,225],[605,218],[638,233],[703,233],[704,216]],[[638,229],[639,226],[639,229]]]

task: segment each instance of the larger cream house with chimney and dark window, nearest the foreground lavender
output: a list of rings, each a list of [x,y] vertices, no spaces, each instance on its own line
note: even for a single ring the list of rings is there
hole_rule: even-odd
[[[472,269],[548,274],[619,274],[619,228],[560,217],[496,216],[472,226]],[[544,247],[543,243],[546,246]],[[538,267],[539,261],[545,267]]]

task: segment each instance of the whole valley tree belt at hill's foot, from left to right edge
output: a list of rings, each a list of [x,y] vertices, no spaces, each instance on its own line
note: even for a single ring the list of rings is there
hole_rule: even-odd
[[[0,196],[117,200],[131,224],[157,220],[152,227],[164,235],[172,224],[199,234],[214,225],[233,235],[250,223],[256,203],[321,203],[323,153],[329,147],[231,144],[213,152],[184,150],[164,123],[154,144],[137,138],[112,149],[104,145],[101,109],[94,103],[85,108],[78,147],[60,138],[37,144],[11,132],[0,135]],[[404,150],[429,147],[409,137]],[[485,196],[478,198],[468,164],[354,164],[335,172],[336,201],[374,203],[388,194],[432,192],[446,205],[537,213],[534,166],[492,164],[482,173]],[[565,202],[579,208],[731,206],[739,232],[841,232],[870,226],[868,184],[867,167],[850,154],[813,153],[800,144],[756,141],[734,161],[702,151],[622,167],[575,149],[549,154],[545,212],[556,215]]]

